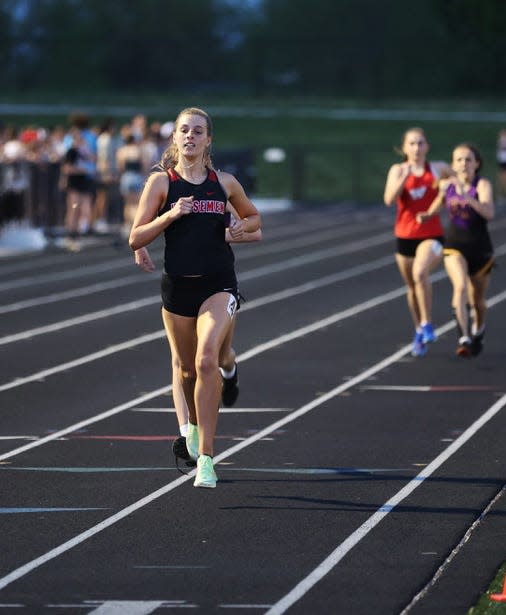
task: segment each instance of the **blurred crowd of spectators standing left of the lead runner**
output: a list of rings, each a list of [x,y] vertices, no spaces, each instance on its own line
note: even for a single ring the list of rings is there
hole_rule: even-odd
[[[126,234],[132,203],[171,134],[172,122],[148,124],[143,114],[121,125],[81,112],[52,128],[0,124],[0,227],[27,220],[61,229],[69,243],[111,224]]]

